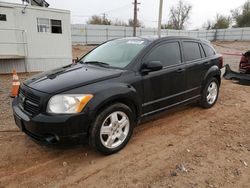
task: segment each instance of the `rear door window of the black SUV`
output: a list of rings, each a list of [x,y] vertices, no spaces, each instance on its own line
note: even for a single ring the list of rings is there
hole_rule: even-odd
[[[193,61],[201,58],[199,43],[183,42],[183,53],[185,61]]]

